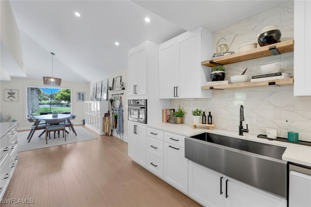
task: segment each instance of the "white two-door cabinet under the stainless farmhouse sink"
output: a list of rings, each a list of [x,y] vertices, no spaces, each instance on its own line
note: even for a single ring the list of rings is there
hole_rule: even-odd
[[[189,161],[189,196],[208,207],[286,207],[285,198]]]

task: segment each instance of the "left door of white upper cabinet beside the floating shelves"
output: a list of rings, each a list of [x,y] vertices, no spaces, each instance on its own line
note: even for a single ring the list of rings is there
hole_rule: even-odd
[[[159,48],[159,98],[176,97],[176,87],[179,83],[178,44],[165,42]]]

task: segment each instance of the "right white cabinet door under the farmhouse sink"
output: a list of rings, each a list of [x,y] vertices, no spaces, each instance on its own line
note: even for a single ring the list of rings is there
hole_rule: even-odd
[[[285,198],[227,178],[225,207],[286,207]]]

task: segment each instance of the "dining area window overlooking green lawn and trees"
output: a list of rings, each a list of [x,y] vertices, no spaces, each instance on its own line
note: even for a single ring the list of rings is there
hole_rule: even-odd
[[[71,90],[63,88],[27,87],[27,115],[70,113]]]

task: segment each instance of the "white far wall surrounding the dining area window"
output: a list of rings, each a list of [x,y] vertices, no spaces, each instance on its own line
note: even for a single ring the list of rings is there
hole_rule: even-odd
[[[31,123],[27,121],[27,87],[46,87],[42,79],[31,78],[12,78],[11,81],[0,81],[0,112],[6,117],[11,116],[11,120],[17,120],[18,129],[30,129]],[[75,124],[82,124],[85,119],[84,102],[77,102],[77,91],[85,91],[86,98],[90,97],[88,83],[62,81],[61,87],[71,89],[71,113],[76,114],[77,118],[73,121]],[[5,102],[4,89],[17,89],[18,101]]]

